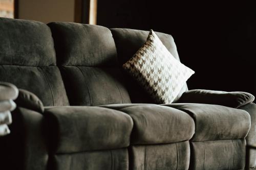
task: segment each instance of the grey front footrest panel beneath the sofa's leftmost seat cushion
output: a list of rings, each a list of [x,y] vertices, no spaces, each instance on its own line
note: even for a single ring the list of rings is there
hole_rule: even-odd
[[[55,170],[128,170],[127,149],[54,155],[50,169]]]

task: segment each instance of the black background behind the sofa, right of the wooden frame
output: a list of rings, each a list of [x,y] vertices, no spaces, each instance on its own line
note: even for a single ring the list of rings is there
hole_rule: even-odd
[[[196,74],[189,89],[256,94],[256,6],[236,2],[98,0],[97,24],[171,34]]]

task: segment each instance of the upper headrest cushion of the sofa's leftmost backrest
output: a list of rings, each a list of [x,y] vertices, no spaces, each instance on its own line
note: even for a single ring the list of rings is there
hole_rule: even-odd
[[[0,65],[55,65],[50,29],[41,22],[0,17]]]

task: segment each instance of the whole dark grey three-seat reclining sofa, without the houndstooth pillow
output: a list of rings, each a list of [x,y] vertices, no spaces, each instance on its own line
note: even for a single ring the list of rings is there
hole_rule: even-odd
[[[1,169],[244,169],[254,96],[185,84],[155,104],[121,68],[147,34],[0,18],[0,81],[19,88]],[[156,34],[179,60],[173,37]]]

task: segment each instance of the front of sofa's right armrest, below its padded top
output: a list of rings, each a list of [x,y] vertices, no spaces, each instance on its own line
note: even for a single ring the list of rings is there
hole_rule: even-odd
[[[256,143],[256,104],[249,103],[247,105],[239,107],[239,109],[245,110],[250,114],[251,117],[251,128],[246,136],[246,144]],[[256,166],[256,150],[250,151],[250,167]]]

